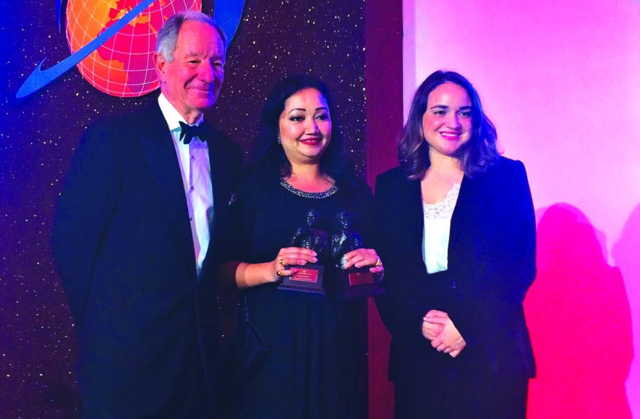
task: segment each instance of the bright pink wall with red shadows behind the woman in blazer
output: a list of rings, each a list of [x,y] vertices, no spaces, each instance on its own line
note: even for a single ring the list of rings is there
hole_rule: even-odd
[[[640,1],[403,9],[405,115],[433,70],[459,71],[504,154],[528,169],[539,223],[530,417],[640,417]]]

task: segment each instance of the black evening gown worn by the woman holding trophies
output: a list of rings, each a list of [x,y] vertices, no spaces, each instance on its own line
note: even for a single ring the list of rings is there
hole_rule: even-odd
[[[288,247],[306,213],[318,212],[316,227],[331,234],[336,214],[349,212],[363,232],[370,207],[365,185],[336,182],[330,196],[300,196],[278,178],[246,176],[239,187],[241,259],[268,262]],[[365,243],[366,246],[367,243]],[[250,323],[270,347],[266,362],[245,383],[235,418],[367,417],[366,300],[311,300],[277,284],[246,289]],[[243,314],[244,315],[244,314]]]

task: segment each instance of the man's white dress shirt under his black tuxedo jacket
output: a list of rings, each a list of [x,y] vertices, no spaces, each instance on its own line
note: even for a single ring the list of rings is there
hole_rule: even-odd
[[[211,186],[211,166],[209,164],[209,147],[206,142],[193,138],[189,144],[180,141],[180,121],[187,123],[180,112],[160,94],[158,97],[160,110],[171,131],[175,154],[178,155],[184,195],[187,196],[189,220],[191,221],[191,238],[196,259],[196,273],[200,277],[202,262],[209,248],[209,226],[214,219],[214,191]],[[200,125],[200,117],[194,125]]]

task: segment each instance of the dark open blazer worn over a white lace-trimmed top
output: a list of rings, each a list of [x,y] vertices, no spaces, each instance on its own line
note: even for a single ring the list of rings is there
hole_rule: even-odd
[[[428,275],[422,259],[420,181],[407,180],[399,167],[383,173],[375,207],[376,249],[387,287],[377,303],[392,334],[390,376],[406,357],[436,364],[451,359],[422,336],[422,317],[431,309],[447,311],[467,342],[454,362],[535,375],[522,308],[535,277],[535,215],[524,165],[501,157],[482,176],[463,178],[445,275]]]

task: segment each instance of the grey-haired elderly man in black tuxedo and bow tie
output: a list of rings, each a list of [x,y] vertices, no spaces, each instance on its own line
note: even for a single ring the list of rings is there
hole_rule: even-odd
[[[159,31],[150,108],[94,123],[71,164],[53,253],[80,336],[85,418],[214,418],[214,271],[241,153],[203,123],[223,84],[211,17]]]

